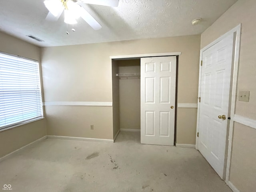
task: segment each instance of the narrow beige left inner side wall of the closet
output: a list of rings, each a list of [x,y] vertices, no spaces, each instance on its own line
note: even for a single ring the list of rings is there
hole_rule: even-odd
[[[120,130],[119,80],[116,76],[117,73],[118,61],[112,60],[113,137],[115,137]]]

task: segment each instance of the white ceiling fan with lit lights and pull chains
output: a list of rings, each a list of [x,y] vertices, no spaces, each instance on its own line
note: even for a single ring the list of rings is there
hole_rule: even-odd
[[[78,18],[85,20],[94,30],[102,26],[84,9],[83,4],[96,4],[117,7],[119,0],[45,0],[44,5],[49,10],[46,20],[57,21],[64,11],[64,22],[76,24]],[[68,32],[67,32],[68,33]]]

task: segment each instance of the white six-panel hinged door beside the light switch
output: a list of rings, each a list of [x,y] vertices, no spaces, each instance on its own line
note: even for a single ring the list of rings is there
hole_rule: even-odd
[[[232,50],[233,34],[202,52],[198,149],[221,178],[224,178]]]

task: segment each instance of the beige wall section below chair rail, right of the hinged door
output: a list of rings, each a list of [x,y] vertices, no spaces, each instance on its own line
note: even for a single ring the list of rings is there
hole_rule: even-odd
[[[256,189],[256,138],[255,129],[235,123],[230,181],[240,192]]]

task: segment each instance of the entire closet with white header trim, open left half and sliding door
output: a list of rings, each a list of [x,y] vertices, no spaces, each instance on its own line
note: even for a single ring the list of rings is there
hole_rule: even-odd
[[[114,142],[175,145],[180,54],[110,56]]]

